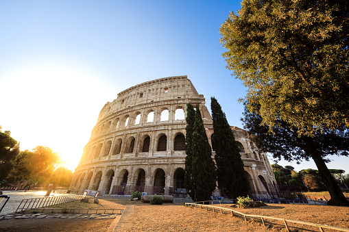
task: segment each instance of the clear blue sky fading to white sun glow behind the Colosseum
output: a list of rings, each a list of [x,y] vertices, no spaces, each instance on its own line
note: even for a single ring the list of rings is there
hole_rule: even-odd
[[[230,125],[243,127],[237,99],[245,88],[225,68],[219,43],[221,23],[239,8],[239,1],[1,1],[0,125],[21,150],[47,145],[76,163],[117,93],[187,75],[208,107],[215,96]],[[334,159],[330,168],[349,172],[349,158]]]

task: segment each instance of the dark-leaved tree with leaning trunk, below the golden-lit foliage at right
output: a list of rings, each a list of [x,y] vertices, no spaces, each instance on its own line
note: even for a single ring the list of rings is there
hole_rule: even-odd
[[[258,107],[256,107],[258,109]],[[313,159],[320,177],[326,185],[331,199],[329,205],[349,205],[338,184],[326,166],[327,155],[345,155],[349,153],[349,131],[344,125],[340,129],[331,131],[323,128],[323,131],[314,132],[313,137],[299,136],[297,127],[292,127],[283,120],[278,120],[278,125],[269,132],[269,127],[262,124],[259,114],[250,113],[245,107],[243,123],[249,131],[252,140],[259,149],[272,153],[275,159],[284,158],[287,161]]]

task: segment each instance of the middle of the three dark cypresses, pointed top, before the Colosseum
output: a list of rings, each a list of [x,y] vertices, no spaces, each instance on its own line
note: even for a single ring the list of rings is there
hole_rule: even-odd
[[[195,187],[193,201],[208,201],[216,188],[216,168],[211,157],[212,150],[208,143],[199,104],[196,104],[195,121],[191,138],[192,177]]]

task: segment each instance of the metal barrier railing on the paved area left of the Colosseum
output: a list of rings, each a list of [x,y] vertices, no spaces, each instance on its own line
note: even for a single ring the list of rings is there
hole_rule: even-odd
[[[69,194],[64,196],[51,196],[45,198],[32,198],[32,199],[23,199],[17,207],[16,212],[25,211],[27,209],[36,209],[41,207],[46,207],[49,205],[57,205],[62,203],[67,203],[71,201],[79,201],[84,198],[83,195],[79,194]]]

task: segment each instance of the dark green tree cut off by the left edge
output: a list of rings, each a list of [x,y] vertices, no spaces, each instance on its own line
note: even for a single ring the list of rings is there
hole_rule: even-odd
[[[19,154],[19,143],[10,136],[10,131],[1,131],[0,127],[0,181],[8,177]]]

